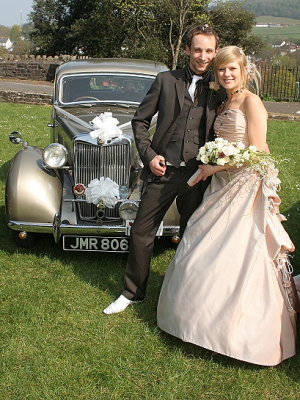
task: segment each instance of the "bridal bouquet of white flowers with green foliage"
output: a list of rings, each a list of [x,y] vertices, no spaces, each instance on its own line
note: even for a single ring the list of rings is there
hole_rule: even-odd
[[[270,168],[275,168],[274,159],[269,153],[258,150],[253,145],[246,147],[242,142],[229,142],[223,138],[207,142],[199,149],[196,159],[203,164],[228,165],[236,168],[249,165],[262,177],[268,175]],[[200,173],[198,170],[191,176],[187,182],[189,186],[193,186],[193,181]]]

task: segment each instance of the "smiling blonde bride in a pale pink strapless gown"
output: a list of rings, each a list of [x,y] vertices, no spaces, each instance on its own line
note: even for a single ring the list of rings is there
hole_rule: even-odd
[[[249,90],[259,74],[236,46],[214,61],[227,101],[218,137],[266,150],[267,112]],[[279,179],[241,168],[201,165],[194,184],[212,176],[202,205],[166,273],[158,326],[185,342],[250,363],[272,366],[295,354],[299,300],[281,225]]]

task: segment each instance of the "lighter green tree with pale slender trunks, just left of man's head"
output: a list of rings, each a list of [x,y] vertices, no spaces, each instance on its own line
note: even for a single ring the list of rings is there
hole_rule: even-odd
[[[207,21],[207,3],[208,0],[115,1],[121,20],[126,23],[126,53],[144,53],[151,59],[159,55],[161,61],[175,69],[187,29],[193,23]]]

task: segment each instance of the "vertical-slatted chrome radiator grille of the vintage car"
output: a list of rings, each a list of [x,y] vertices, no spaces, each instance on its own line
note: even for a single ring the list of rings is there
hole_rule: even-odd
[[[89,143],[76,142],[74,152],[75,183],[87,186],[91,180],[101,177],[110,178],[120,186],[129,187],[130,143],[116,143],[95,146]],[[83,220],[97,218],[97,206],[79,202],[79,216]],[[119,218],[118,204],[106,208],[103,219]]]

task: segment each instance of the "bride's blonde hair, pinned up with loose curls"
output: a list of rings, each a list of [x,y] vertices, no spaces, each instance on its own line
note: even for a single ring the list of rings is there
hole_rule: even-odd
[[[219,68],[235,61],[239,63],[241,68],[242,87],[258,94],[261,81],[260,73],[256,66],[250,62],[249,57],[245,55],[244,51],[237,46],[226,46],[217,52],[213,62],[215,89],[220,88],[217,75]]]

